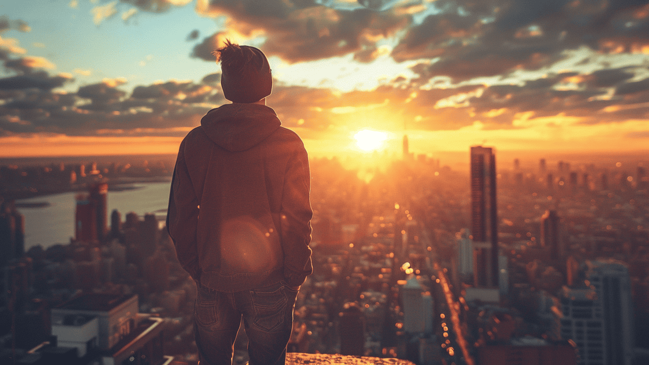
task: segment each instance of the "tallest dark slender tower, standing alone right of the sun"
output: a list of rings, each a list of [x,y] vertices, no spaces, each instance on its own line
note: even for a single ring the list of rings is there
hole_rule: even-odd
[[[476,242],[474,278],[479,286],[498,286],[497,212],[496,156],[489,147],[471,147],[471,233]]]

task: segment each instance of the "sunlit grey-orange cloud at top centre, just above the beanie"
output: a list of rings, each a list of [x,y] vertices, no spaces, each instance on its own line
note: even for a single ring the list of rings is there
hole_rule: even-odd
[[[392,36],[409,22],[407,14],[391,10],[376,12],[367,8],[336,8],[338,3],[282,0],[234,1],[213,0],[198,6],[204,15],[227,14],[227,29],[250,39],[263,34],[261,49],[267,55],[277,55],[288,62],[317,60],[358,53],[358,60],[376,57],[376,42]],[[260,33],[261,32],[261,33]],[[193,55],[203,59],[213,46],[220,44],[217,32],[195,47]]]

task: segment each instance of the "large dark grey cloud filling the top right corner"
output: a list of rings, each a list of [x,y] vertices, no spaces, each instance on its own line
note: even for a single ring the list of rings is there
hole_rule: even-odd
[[[537,70],[580,47],[649,53],[646,1],[439,0],[434,5],[440,11],[406,29],[391,53],[398,62],[437,58],[423,78],[465,81]]]

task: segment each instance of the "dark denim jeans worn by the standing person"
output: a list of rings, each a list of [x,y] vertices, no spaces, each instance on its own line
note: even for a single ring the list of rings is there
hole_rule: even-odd
[[[197,283],[194,334],[201,365],[231,365],[241,316],[250,365],[283,365],[299,287],[284,282],[241,292],[217,292]]]

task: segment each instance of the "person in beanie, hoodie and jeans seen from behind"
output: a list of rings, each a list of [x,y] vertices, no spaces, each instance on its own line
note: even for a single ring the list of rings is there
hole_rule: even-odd
[[[201,365],[232,364],[242,317],[249,363],[284,364],[295,299],[313,271],[308,157],[265,105],[273,78],[263,52],[227,40],[214,55],[232,104],[182,140],[167,231],[197,285]]]

